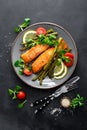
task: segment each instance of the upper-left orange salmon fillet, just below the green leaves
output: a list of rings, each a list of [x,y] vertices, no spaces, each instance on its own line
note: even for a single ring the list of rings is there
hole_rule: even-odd
[[[37,56],[39,56],[42,52],[47,50],[49,48],[48,45],[42,45],[38,44],[28,51],[21,54],[21,58],[24,60],[25,63],[30,63],[32,60],[34,60]]]

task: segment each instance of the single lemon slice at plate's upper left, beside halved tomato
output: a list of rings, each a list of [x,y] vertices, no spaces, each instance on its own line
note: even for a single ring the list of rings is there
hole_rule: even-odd
[[[35,36],[36,36],[36,31],[34,31],[34,30],[29,30],[29,31],[25,32],[23,35],[23,43],[26,43],[28,41],[28,39],[32,39]]]

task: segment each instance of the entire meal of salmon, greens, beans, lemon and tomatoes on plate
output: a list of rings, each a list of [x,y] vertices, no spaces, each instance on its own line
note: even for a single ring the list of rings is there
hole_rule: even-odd
[[[74,63],[72,48],[53,29],[38,27],[26,31],[20,51],[20,59],[14,63],[19,67],[18,73],[26,76],[35,74],[32,80],[39,80],[40,85],[46,76],[56,80],[64,78]]]

